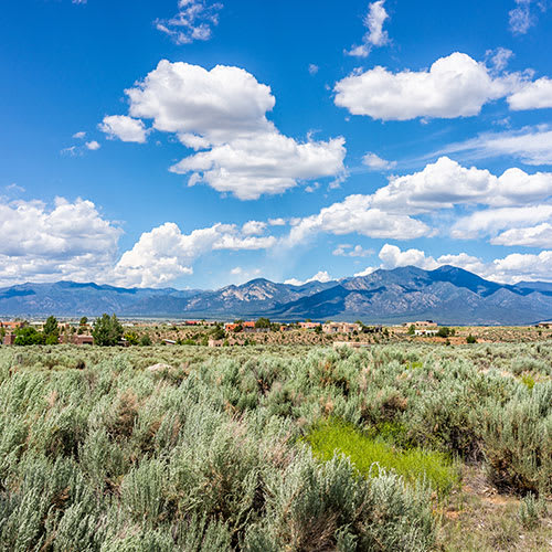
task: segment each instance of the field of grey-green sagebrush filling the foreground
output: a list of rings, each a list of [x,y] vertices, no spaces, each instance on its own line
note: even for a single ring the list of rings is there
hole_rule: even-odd
[[[552,342],[1,348],[0,550],[546,550],[551,365]]]

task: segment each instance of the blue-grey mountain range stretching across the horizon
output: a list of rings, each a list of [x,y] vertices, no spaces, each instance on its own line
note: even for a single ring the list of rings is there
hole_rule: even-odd
[[[552,319],[552,283],[486,280],[453,266],[378,269],[368,276],[296,286],[264,278],[217,290],[123,288],[57,282],[0,288],[0,316],[141,318],[268,317],[273,320],[432,319],[448,325],[526,325]]]

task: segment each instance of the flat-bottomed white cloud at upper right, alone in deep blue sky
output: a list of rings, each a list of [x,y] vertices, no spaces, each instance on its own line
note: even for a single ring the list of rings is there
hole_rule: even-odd
[[[517,92],[530,73],[495,76],[484,63],[455,52],[429,70],[391,73],[376,66],[353,72],[335,86],[336,105],[382,120],[469,117]]]

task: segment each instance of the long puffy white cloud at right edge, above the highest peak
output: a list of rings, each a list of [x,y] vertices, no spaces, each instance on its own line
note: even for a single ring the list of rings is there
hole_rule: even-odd
[[[455,204],[520,205],[548,198],[552,173],[527,172],[512,168],[496,177],[488,170],[461,167],[448,157],[439,158],[422,171],[393,177],[373,195],[372,206],[384,211],[420,214]]]

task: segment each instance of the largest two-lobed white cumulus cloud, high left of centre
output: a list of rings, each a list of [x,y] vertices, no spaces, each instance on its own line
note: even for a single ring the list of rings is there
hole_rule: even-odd
[[[275,105],[270,88],[242,68],[162,60],[126,94],[134,117],[127,119],[152,119],[155,129],[197,151],[170,169],[191,174],[190,185],[204,182],[250,200],[344,171],[344,139],[300,142],[280,134],[266,118]]]

